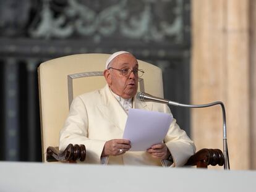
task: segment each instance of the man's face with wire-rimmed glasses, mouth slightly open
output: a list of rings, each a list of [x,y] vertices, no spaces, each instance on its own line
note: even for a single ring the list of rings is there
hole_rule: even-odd
[[[122,75],[122,72],[116,69],[137,70],[139,67],[137,59],[132,54],[124,53],[114,58],[109,67],[115,68],[104,72],[111,90],[124,99],[134,97],[137,93],[139,77],[134,75],[133,72],[128,76]]]

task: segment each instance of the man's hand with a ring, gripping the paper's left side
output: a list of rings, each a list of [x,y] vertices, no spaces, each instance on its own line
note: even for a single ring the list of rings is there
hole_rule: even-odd
[[[130,141],[115,139],[106,141],[101,156],[119,156],[130,149]]]

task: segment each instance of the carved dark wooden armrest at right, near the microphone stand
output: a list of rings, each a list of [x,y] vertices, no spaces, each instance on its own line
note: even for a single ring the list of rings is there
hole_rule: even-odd
[[[201,149],[189,158],[185,165],[197,165],[197,167],[207,168],[208,165],[224,164],[224,155],[220,149]]]

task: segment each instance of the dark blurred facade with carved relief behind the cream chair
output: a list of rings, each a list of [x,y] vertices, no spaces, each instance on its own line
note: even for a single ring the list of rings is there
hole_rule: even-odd
[[[165,98],[190,100],[189,0],[0,0],[0,44],[0,160],[41,161],[36,68],[49,59],[130,51],[163,69]],[[171,110],[189,133],[189,111]]]

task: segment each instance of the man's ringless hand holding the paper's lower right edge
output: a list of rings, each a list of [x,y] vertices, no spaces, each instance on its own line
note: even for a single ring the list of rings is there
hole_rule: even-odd
[[[150,153],[151,156],[159,159],[168,159],[171,154],[164,143],[154,144],[151,148],[147,149],[147,152]]]

